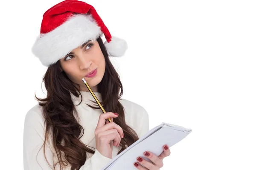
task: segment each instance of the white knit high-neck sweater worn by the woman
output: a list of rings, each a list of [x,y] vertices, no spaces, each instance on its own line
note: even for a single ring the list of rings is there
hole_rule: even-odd
[[[94,100],[90,92],[80,91],[83,97],[83,101],[80,105],[81,96],[78,98],[71,94],[73,103],[76,106],[79,115],[79,123],[84,128],[84,135],[81,137],[81,142],[84,144],[96,148],[94,131],[99,120],[99,115],[103,114],[101,109],[93,109],[86,105],[93,105],[90,100]],[[99,101],[102,101],[101,94],[94,92]],[[131,101],[126,99],[119,100],[125,109],[125,121],[135,132],[137,132],[139,138],[145,135],[149,130],[148,125],[148,113],[145,109]],[[78,119],[78,120],[79,120]],[[44,157],[44,147],[41,148],[44,142],[45,125],[44,117],[41,107],[35,105],[26,114],[23,134],[23,161],[24,170],[52,170],[55,163],[58,162],[56,153],[52,147],[52,142],[47,142],[46,157],[51,165],[47,164]],[[93,149],[91,148],[91,149]],[[121,147],[113,146],[112,159],[117,156]],[[94,150],[94,149],[93,149]],[[39,152],[38,152],[39,151]],[[95,149],[95,153],[87,153],[87,159],[84,165],[79,170],[101,170],[111,159],[102,156],[98,150]],[[59,164],[55,167],[55,170],[60,170]],[[70,164],[64,168],[64,170],[70,170]]]

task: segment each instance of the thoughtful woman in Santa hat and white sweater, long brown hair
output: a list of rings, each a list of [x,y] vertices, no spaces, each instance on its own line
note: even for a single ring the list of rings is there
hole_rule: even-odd
[[[24,170],[101,170],[148,132],[148,113],[121,99],[122,83],[109,60],[126,49],[125,40],[112,37],[87,3],[65,0],[44,13],[32,52],[48,67],[43,78],[47,97],[36,97],[38,105],[26,114]],[[137,158],[134,167],[158,170],[170,150],[165,145],[160,156],[144,154],[153,163]]]

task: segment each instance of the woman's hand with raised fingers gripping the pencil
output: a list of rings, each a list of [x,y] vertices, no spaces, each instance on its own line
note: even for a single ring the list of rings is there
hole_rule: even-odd
[[[113,146],[119,147],[121,138],[123,138],[122,127],[113,122],[113,118],[117,116],[118,115],[112,112],[101,114],[95,129],[96,149],[103,156],[110,159],[112,159]],[[109,122],[108,118],[110,118],[112,122]]]

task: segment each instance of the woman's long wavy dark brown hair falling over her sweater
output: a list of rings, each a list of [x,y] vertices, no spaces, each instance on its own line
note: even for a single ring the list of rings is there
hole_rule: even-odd
[[[114,119],[114,122],[122,127],[125,134],[125,138],[121,139],[120,142],[122,149],[119,150],[119,154],[136,142],[139,137],[131,127],[126,125],[124,108],[119,102],[119,99],[121,99],[123,94],[119,74],[116,72],[109,60],[108,53],[102,39],[98,37],[97,41],[99,42],[99,46],[105,57],[106,63],[105,74],[102,81],[97,85],[98,92],[102,95],[101,104],[106,112],[119,114],[119,116]],[[49,66],[43,77],[43,81],[47,90],[47,97],[41,99],[35,95],[39,105],[43,108],[45,118],[46,135],[43,146],[45,147],[46,141],[50,136],[58,157],[60,168],[62,169],[63,166],[69,163],[71,164],[71,170],[78,170],[87,158],[86,153],[95,153],[79,140],[81,136],[84,135],[84,129],[79,125],[78,120],[75,118],[74,114],[77,114],[77,111],[70,93],[76,97],[79,97],[81,93],[76,85],[67,77],[64,71],[61,72],[59,61]],[[81,102],[79,104],[81,104]],[[100,109],[96,106],[90,107]],[[52,135],[49,135],[50,133]],[[54,169],[55,166],[56,164],[54,165]]]

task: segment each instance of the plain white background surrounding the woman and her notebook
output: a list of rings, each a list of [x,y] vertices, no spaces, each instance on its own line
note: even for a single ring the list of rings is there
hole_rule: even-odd
[[[23,121],[44,96],[47,68],[31,53],[44,12],[60,0],[1,2],[1,168],[23,169]],[[128,42],[113,64],[123,98],[142,105],[150,129],[192,133],[161,170],[255,170],[256,4],[251,0],[87,0]],[[43,86],[44,87],[44,86]]]

